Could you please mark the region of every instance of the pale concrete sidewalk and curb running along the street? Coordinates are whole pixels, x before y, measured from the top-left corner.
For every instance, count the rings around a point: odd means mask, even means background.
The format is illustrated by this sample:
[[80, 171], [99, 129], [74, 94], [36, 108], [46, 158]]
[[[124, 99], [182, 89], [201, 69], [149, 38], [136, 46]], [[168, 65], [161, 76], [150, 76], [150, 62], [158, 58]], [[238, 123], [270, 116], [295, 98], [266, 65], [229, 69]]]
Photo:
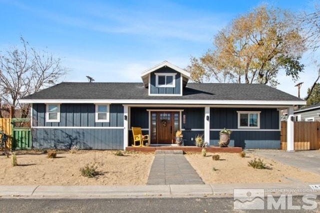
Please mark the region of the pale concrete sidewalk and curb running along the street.
[[[312, 189], [310, 185], [317, 185]], [[129, 197], [232, 197], [234, 188], [264, 188], [265, 193], [317, 194], [317, 183], [246, 183], [246, 184], [190, 184], [190, 185], [134, 185], [134, 186], [6, 186], [0, 185], [1, 198], [129, 198]], [[292, 190], [293, 189], [293, 190]], [[294, 190], [295, 189], [295, 190]]]

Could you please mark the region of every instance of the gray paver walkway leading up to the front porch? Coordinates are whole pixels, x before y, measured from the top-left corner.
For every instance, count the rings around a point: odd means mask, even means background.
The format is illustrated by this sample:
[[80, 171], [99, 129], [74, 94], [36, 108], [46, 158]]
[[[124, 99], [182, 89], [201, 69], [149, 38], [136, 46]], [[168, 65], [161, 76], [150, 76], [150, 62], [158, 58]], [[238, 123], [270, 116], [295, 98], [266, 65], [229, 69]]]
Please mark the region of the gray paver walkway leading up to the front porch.
[[204, 184], [181, 151], [156, 151], [148, 185]]

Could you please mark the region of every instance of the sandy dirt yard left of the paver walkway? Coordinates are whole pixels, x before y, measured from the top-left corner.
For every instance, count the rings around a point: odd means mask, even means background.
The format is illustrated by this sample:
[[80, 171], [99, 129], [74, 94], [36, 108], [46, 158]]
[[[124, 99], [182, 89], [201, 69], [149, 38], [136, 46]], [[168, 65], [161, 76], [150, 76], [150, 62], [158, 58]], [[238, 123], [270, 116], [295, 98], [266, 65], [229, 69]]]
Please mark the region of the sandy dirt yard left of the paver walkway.
[[[146, 184], [153, 153], [125, 153], [125, 156], [116, 156], [114, 153], [115, 151], [62, 151], [57, 152], [56, 158], [47, 158], [47, 154], [43, 152], [17, 152], [18, 166], [12, 166], [11, 158], [1, 155], [0, 185]], [[80, 168], [94, 163], [100, 174], [94, 178], [82, 176]]]

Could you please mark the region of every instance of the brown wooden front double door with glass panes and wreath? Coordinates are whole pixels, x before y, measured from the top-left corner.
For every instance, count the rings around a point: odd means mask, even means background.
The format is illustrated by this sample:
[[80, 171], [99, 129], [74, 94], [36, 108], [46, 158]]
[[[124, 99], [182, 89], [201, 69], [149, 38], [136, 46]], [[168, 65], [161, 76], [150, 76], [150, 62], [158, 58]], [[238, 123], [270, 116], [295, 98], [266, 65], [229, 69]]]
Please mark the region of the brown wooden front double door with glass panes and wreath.
[[179, 111], [151, 111], [151, 143], [172, 143], [179, 129]]

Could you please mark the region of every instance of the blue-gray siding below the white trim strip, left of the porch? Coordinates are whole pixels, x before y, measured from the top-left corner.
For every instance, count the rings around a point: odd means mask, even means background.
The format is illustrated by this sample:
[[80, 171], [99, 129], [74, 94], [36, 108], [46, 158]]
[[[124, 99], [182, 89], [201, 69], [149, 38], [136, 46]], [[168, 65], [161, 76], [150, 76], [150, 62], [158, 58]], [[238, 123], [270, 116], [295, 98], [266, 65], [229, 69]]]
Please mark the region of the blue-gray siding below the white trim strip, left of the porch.
[[123, 149], [123, 129], [33, 128], [33, 148]]

